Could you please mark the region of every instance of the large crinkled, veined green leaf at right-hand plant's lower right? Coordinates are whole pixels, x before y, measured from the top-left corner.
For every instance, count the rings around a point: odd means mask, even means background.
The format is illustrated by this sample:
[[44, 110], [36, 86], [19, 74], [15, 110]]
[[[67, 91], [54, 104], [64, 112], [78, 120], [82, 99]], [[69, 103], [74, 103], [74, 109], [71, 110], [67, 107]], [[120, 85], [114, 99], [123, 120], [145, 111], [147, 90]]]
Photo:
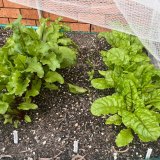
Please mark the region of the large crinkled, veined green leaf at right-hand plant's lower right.
[[145, 108], [139, 108], [134, 113], [123, 111], [122, 122], [133, 129], [143, 142], [155, 141], [160, 137], [157, 117]]

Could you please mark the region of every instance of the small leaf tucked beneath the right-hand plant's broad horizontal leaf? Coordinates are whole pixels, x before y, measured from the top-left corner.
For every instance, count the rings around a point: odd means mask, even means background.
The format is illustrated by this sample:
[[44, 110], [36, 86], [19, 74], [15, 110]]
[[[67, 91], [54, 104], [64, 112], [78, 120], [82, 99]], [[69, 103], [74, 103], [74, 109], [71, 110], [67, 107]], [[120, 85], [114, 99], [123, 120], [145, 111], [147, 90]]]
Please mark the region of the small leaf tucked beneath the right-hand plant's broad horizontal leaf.
[[122, 124], [122, 118], [118, 115], [118, 114], [115, 114], [113, 116], [110, 116], [105, 124], [115, 124], [115, 125], [121, 125]]

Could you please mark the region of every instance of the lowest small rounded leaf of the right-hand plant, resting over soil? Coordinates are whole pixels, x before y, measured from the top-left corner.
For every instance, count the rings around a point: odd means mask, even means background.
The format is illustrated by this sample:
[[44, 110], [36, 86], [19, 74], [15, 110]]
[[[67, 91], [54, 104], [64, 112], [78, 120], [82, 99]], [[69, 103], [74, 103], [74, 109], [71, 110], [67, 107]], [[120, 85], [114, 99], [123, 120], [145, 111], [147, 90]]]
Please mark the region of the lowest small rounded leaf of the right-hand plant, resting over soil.
[[128, 145], [133, 141], [133, 135], [131, 129], [123, 129], [116, 137], [116, 144], [118, 147]]

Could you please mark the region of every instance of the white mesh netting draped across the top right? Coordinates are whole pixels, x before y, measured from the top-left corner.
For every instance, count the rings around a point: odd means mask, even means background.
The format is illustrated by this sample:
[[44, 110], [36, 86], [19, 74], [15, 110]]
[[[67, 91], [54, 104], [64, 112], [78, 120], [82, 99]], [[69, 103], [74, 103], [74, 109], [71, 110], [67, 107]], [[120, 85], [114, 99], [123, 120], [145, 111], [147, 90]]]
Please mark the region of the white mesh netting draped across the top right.
[[160, 0], [10, 0], [139, 37], [160, 67]]

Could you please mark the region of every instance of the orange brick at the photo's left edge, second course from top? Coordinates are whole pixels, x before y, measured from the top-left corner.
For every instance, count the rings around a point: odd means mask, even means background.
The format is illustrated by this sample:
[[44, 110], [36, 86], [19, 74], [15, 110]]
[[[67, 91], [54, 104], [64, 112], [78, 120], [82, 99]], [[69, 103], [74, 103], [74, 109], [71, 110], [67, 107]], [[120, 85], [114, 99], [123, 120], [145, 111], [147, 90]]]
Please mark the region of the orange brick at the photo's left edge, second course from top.
[[0, 17], [17, 18], [19, 15], [19, 9], [0, 8]]

